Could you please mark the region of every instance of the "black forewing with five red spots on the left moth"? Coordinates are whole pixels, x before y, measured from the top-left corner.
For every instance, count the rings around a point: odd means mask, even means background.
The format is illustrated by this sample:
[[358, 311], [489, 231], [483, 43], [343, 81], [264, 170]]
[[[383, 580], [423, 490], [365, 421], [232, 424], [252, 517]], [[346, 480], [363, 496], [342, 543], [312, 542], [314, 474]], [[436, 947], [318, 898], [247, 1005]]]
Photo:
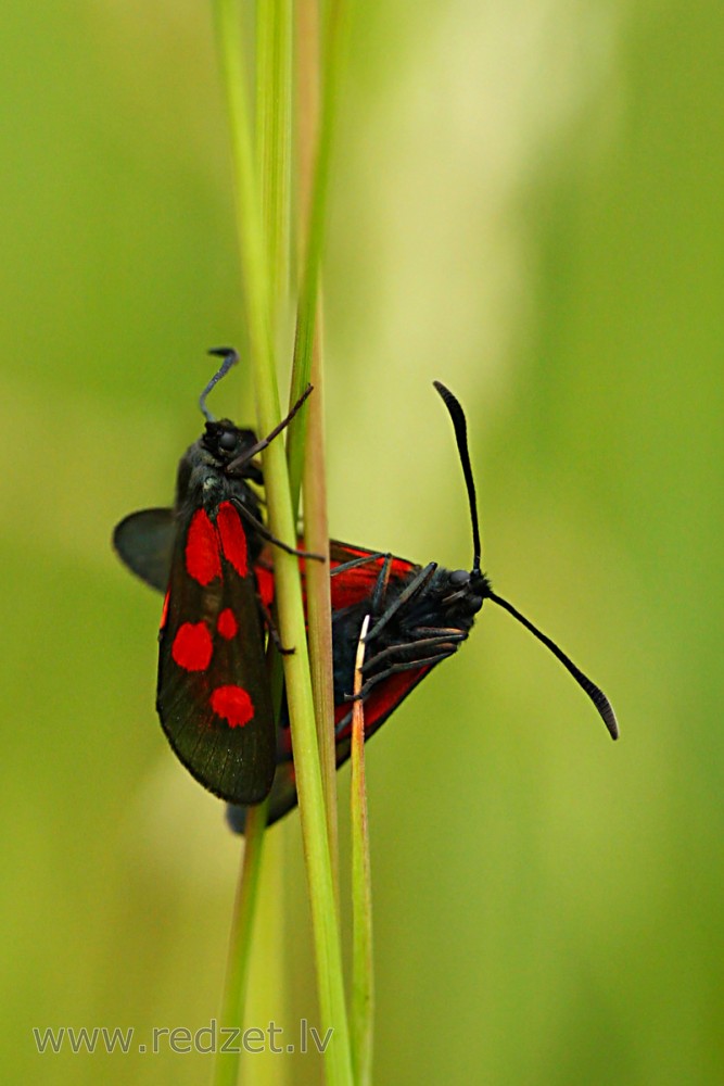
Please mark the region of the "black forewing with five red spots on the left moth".
[[256, 582], [237, 509], [179, 526], [160, 632], [157, 709], [176, 754], [236, 804], [269, 792], [276, 738]]

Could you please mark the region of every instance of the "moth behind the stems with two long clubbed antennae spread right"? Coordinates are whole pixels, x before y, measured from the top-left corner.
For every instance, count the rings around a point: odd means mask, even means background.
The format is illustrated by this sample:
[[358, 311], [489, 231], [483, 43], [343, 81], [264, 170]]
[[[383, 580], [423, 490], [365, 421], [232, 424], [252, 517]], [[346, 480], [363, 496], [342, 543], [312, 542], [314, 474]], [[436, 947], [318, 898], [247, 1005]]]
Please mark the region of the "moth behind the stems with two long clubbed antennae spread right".
[[[365, 637], [360, 691], [365, 705], [365, 738], [368, 740], [433, 667], [457, 652], [467, 640], [485, 599], [507, 610], [550, 649], [588, 695], [611, 737], [618, 738], [615, 714], [600, 687], [512, 604], [497, 595], [482, 571], [478, 506], [465, 415], [453, 393], [440, 381], [434, 384], [453, 420], [468, 491], [473, 538], [472, 569], [449, 570], [434, 561], [422, 567], [391, 554], [334, 541], [330, 543], [338, 767], [350, 757], [351, 695], [355, 656], [365, 617], [371, 617]], [[266, 553], [261, 560], [270, 564], [270, 554]], [[296, 804], [288, 727], [280, 731], [277, 760], [269, 795], [269, 823]], [[231, 828], [243, 832], [243, 808], [230, 807], [228, 816]]]

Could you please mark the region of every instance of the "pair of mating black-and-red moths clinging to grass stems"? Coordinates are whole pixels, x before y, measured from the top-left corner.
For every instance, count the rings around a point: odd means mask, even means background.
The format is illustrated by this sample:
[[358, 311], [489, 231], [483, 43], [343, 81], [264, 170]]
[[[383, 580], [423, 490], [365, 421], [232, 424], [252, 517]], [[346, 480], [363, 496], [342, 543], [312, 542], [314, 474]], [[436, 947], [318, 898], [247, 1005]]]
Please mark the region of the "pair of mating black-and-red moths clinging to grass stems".
[[[142, 509], [117, 525], [113, 542], [125, 565], [165, 592], [158, 634], [156, 708], [180, 761], [206, 788], [234, 806], [269, 796], [268, 821], [296, 804], [289, 722], [277, 728], [265, 666], [267, 634], [277, 639], [274, 551], [284, 546], [263, 522], [263, 483], [255, 457], [289, 424], [263, 441], [253, 430], [216, 420], [206, 396], [237, 362], [218, 349], [219, 370], [200, 399], [204, 432], [178, 467], [173, 509]], [[561, 649], [491, 588], [482, 572], [475, 489], [460, 404], [443, 384], [457, 440], [472, 520], [473, 560], [448, 570], [331, 540], [332, 644], [336, 765], [350, 756], [351, 695], [360, 630], [367, 616], [360, 696], [369, 738], [441, 660], [457, 652], [485, 599], [505, 608], [546, 645], [592, 699], [613, 738], [613, 709]], [[304, 563], [321, 556], [300, 553]], [[237, 826], [243, 829], [243, 811]]]

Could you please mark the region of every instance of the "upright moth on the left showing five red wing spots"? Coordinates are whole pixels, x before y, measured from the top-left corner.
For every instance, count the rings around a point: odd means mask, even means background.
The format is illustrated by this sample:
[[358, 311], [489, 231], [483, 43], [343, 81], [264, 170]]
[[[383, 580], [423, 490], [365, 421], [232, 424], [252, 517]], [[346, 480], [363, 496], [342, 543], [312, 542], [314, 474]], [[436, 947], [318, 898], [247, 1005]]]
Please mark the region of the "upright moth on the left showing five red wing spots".
[[165, 591], [158, 633], [156, 708], [180, 761], [206, 788], [234, 804], [261, 803], [275, 774], [276, 732], [265, 667], [269, 577], [257, 577], [265, 540], [254, 457], [289, 424], [257, 441], [216, 420], [206, 396], [238, 361], [229, 348], [200, 397], [201, 438], [181, 457], [173, 510], [142, 509], [117, 525], [123, 561]]

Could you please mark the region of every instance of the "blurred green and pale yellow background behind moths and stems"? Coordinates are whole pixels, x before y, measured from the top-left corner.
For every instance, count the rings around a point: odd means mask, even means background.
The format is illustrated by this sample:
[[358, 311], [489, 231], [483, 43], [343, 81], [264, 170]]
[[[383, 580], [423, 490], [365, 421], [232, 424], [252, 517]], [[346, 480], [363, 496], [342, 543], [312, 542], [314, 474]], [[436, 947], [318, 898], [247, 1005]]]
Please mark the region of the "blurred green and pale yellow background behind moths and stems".
[[[2, 35], [3, 1077], [204, 1083], [205, 1056], [38, 1056], [30, 1028], [218, 1012], [239, 846], [166, 747], [158, 599], [109, 544], [172, 497], [206, 348], [243, 343], [211, 18], [5, 0]], [[494, 585], [622, 727], [487, 607], [370, 745], [379, 1083], [724, 1082], [723, 46], [713, 0], [356, 11], [332, 533], [469, 564], [444, 380]], [[253, 422], [247, 375], [215, 395]], [[250, 1023], [295, 1030], [297, 816], [267, 843]]]

